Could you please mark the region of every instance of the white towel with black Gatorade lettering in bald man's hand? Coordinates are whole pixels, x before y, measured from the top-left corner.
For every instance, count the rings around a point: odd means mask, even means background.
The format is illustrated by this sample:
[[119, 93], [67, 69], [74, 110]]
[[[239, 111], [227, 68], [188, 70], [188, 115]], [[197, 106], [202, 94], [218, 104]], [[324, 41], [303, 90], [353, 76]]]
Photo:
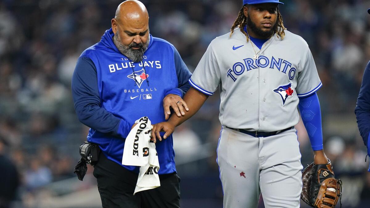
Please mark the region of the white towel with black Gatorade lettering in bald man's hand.
[[122, 157], [122, 165], [140, 166], [134, 195], [139, 191], [161, 186], [157, 150], [150, 136], [152, 124], [148, 117], [142, 117], [135, 123], [138, 124], [126, 138]]

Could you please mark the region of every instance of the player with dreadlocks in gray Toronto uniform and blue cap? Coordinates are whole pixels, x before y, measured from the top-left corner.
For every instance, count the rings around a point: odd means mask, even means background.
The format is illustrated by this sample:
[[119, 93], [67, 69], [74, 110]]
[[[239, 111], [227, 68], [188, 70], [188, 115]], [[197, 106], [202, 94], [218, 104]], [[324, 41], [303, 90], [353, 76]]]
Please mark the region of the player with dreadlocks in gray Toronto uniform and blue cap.
[[182, 117], [154, 125], [162, 140], [199, 110], [219, 86], [222, 124], [217, 163], [223, 206], [300, 207], [302, 164], [294, 126], [299, 106], [314, 150], [315, 164], [328, 164], [323, 152], [316, 91], [322, 86], [305, 40], [286, 30], [279, 0], [243, 0], [231, 32], [215, 38], [189, 82]]

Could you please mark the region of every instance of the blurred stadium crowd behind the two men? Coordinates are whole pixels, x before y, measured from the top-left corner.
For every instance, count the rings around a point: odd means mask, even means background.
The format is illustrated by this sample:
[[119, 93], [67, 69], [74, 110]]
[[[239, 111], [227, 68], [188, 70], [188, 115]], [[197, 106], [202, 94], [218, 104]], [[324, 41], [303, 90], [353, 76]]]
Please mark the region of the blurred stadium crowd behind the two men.
[[[282, 1], [284, 25], [307, 41], [323, 82], [324, 148], [343, 180], [343, 207], [369, 207], [369, 161], [353, 111], [370, 60], [370, 1]], [[77, 120], [70, 85], [78, 56], [111, 27], [120, 2], [0, 0], [0, 143], [7, 144], [0, 154], [14, 161], [21, 180], [12, 207], [101, 207], [92, 168], [83, 182], [73, 174], [88, 128]], [[242, 6], [241, 0], [142, 2], [150, 33], [174, 44], [191, 71], [210, 41], [228, 33]], [[182, 207], [222, 207], [218, 112], [215, 93], [176, 128]], [[296, 128], [305, 166], [312, 150], [302, 123]]]

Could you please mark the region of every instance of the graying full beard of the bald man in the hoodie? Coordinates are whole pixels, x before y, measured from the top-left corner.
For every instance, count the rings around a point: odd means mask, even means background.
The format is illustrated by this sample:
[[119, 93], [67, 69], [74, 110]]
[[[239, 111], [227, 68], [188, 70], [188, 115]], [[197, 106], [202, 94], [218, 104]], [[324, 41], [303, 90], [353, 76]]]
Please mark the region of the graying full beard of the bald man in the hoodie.
[[[150, 42], [150, 35], [148, 35], [147, 43], [131, 43], [128, 46], [122, 44], [120, 34], [118, 30], [113, 37], [113, 43], [117, 47], [117, 49], [125, 55], [127, 58], [131, 59], [134, 63], [141, 62], [143, 60], [143, 56], [145, 51], [147, 51]], [[132, 47], [140, 47], [139, 49], [132, 49]]]

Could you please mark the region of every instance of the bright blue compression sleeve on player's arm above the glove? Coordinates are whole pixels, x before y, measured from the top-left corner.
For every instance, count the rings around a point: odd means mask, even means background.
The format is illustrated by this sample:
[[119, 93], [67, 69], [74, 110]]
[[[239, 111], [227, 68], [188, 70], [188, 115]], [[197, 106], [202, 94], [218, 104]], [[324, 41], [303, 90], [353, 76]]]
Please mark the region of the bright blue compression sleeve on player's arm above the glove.
[[308, 137], [310, 138], [312, 150], [322, 150], [323, 130], [321, 125], [319, 97], [317, 97], [316, 93], [307, 97], [300, 97], [298, 107]]

